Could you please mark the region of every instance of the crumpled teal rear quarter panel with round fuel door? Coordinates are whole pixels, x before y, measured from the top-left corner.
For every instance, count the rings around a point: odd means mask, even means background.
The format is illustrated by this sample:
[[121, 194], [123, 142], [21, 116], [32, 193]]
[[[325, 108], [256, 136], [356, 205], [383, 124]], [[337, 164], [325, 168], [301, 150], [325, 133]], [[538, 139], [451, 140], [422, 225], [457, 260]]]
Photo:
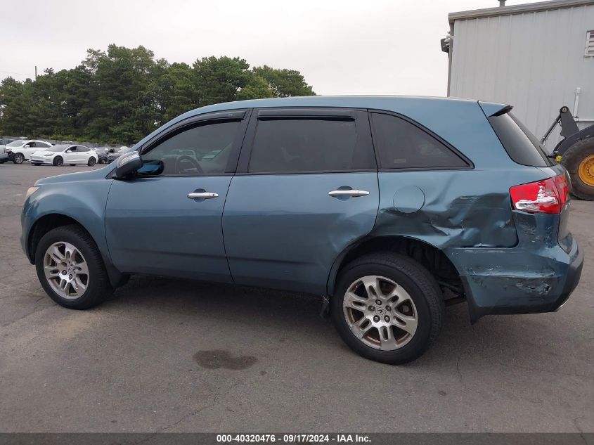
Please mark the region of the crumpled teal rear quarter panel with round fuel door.
[[[380, 172], [380, 212], [372, 235], [407, 236], [439, 249], [512, 247], [517, 234], [509, 187], [522, 181], [517, 176], [497, 169]], [[411, 202], [415, 189], [423, 195]]]

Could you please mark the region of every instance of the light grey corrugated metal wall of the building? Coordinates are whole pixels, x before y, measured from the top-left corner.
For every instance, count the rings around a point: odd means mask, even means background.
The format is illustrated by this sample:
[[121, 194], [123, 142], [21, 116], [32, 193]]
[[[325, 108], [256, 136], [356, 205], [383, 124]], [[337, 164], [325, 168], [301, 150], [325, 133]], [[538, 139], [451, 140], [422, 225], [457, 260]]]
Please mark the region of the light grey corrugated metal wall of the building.
[[594, 58], [584, 57], [588, 30], [594, 30], [594, 6], [456, 20], [449, 94], [514, 105], [541, 138], [561, 105], [573, 110], [581, 87], [579, 117], [594, 119]]

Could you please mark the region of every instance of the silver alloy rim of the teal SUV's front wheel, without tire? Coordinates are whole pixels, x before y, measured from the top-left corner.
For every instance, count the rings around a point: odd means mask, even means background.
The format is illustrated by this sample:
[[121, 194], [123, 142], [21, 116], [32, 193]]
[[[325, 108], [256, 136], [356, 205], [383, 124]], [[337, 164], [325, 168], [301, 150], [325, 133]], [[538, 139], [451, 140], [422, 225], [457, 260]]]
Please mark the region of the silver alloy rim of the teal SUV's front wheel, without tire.
[[72, 244], [58, 241], [44, 255], [44, 273], [53, 292], [65, 299], [82, 297], [89, 287], [89, 265]]

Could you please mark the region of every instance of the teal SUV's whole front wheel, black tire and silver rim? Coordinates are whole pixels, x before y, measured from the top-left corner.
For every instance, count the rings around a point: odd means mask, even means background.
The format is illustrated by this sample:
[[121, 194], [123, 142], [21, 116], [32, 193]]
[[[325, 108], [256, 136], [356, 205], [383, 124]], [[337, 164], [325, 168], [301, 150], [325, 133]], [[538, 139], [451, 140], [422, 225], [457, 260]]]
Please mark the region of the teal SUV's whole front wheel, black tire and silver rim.
[[47, 295], [69, 309], [89, 309], [113, 292], [97, 245], [75, 224], [54, 228], [39, 240], [35, 269]]

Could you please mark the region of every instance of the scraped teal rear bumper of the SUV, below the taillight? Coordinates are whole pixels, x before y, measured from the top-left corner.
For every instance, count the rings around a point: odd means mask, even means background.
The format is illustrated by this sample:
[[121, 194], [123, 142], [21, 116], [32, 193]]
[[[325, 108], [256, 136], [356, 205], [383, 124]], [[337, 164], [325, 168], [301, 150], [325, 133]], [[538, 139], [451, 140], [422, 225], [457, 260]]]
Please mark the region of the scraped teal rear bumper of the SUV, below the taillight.
[[[491, 314], [553, 312], [579, 283], [583, 251], [572, 240], [536, 252], [512, 249], [454, 249], [471, 323]], [[501, 261], [500, 261], [501, 260]]]

